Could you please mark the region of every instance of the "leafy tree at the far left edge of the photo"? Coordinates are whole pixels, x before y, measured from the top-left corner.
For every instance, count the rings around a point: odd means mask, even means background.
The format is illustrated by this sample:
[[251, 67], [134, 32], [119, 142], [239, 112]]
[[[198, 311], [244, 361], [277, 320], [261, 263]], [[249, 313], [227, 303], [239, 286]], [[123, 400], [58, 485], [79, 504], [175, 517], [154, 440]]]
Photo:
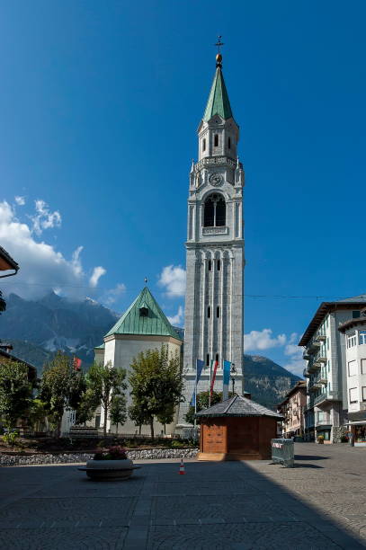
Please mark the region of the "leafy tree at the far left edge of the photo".
[[0, 359], [0, 421], [13, 428], [31, 404], [33, 384], [28, 367], [21, 362]]

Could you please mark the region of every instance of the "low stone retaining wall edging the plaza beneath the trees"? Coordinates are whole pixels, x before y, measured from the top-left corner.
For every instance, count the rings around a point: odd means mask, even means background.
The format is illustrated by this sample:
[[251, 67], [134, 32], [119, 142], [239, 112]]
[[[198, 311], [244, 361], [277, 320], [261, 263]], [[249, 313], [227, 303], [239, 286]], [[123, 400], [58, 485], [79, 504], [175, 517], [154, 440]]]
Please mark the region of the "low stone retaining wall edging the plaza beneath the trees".
[[[154, 458], [194, 458], [198, 448], [147, 448], [128, 450], [131, 460], [152, 460]], [[0, 454], [0, 466], [29, 466], [32, 464], [67, 464], [86, 462], [94, 457], [94, 453], [64, 453], [48, 455], [3, 455]]]

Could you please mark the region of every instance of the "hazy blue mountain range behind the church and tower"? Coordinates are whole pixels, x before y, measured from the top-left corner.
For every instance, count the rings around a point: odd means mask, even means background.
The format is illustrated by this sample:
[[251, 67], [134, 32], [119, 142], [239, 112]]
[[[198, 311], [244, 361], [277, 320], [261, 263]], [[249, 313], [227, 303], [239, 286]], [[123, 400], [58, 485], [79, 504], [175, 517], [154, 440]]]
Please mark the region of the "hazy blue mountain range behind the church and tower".
[[[74, 301], [50, 292], [38, 300], [16, 294], [6, 299], [0, 315], [0, 339], [13, 344], [13, 354], [37, 367], [57, 350], [79, 357], [87, 367], [94, 360], [94, 347], [103, 342], [119, 314], [91, 298]], [[178, 329], [183, 331], [183, 329]], [[245, 391], [269, 408], [280, 403], [299, 377], [271, 359], [244, 356]]]

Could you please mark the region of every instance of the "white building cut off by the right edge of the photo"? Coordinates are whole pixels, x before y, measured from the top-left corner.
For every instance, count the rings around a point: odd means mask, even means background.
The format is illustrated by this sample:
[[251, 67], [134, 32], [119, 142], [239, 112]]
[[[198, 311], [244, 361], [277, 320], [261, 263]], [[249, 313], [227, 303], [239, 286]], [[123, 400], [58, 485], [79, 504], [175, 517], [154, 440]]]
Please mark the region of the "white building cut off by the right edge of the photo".
[[355, 446], [366, 446], [366, 309], [338, 327], [345, 336], [348, 428]]

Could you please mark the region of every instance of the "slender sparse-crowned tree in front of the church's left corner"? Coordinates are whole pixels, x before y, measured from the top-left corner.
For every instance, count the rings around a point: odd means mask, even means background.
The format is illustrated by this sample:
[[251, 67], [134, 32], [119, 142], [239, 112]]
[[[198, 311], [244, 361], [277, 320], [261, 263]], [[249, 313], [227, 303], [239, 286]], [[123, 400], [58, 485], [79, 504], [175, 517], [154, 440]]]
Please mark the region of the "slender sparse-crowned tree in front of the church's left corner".
[[93, 363], [87, 374], [86, 383], [96, 402], [102, 404], [104, 412], [103, 434], [107, 435], [107, 420], [110, 413], [112, 399], [115, 395], [122, 395], [127, 385], [124, 382], [126, 371], [124, 368], [112, 367], [111, 361], [106, 365]]

